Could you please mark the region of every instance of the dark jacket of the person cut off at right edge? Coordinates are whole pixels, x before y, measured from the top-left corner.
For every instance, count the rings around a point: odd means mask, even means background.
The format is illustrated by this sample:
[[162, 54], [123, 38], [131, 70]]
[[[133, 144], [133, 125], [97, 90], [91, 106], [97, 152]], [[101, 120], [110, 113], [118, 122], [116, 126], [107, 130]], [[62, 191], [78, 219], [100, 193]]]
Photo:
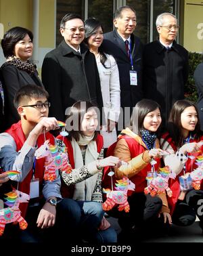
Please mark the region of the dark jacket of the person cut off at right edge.
[[200, 116], [201, 130], [203, 131], [203, 62], [200, 63], [194, 72], [194, 80], [198, 89], [198, 110]]

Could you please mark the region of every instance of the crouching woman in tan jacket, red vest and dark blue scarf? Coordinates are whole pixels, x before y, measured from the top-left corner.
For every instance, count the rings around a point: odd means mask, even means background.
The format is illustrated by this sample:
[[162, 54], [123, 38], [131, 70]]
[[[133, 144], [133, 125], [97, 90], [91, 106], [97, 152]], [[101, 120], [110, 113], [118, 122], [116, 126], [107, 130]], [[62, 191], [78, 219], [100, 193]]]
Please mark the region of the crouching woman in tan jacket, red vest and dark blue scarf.
[[[163, 213], [164, 222], [171, 223], [168, 204], [165, 195], [150, 196], [144, 194], [147, 186], [146, 177], [152, 169], [152, 160], [156, 160], [155, 169], [158, 171], [160, 157], [163, 151], [160, 149], [157, 138], [161, 124], [160, 106], [152, 100], [141, 100], [133, 110], [130, 127], [121, 131], [115, 142], [108, 148], [107, 155], [114, 155], [125, 161], [128, 165], [115, 168], [115, 179], [129, 177], [135, 184], [135, 192], [129, 194], [129, 213], [113, 208], [108, 213], [118, 217], [118, 223], [127, 233], [133, 226], [148, 226], [156, 220], [159, 213]], [[109, 170], [105, 170], [103, 188], [111, 188]]]

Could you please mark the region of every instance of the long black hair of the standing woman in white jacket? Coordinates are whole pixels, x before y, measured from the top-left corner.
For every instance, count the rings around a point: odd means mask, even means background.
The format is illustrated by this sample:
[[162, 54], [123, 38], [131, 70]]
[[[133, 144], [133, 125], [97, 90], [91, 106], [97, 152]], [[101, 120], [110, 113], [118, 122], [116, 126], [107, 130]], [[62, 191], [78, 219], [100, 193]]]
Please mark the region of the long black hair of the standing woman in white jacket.
[[[104, 28], [101, 25], [101, 23], [99, 22], [99, 20], [96, 20], [95, 18], [88, 18], [87, 20], [85, 20], [85, 40], [84, 40], [84, 43], [86, 45], [88, 45], [89, 37], [91, 37], [91, 35], [93, 35], [93, 33], [95, 33], [95, 31], [97, 30], [97, 28], [99, 28], [99, 26], [101, 26], [101, 29], [104, 32]], [[105, 62], [107, 60], [107, 57], [106, 57], [106, 54], [104, 53], [104, 49], [102, 48], [102, 46], [99, 47], [98, 51], [99, 51], [99, 54], [100, 54], [101, 64], [104, 66], [104, 68], [110, 68], [109, 66], [105, 66]]]

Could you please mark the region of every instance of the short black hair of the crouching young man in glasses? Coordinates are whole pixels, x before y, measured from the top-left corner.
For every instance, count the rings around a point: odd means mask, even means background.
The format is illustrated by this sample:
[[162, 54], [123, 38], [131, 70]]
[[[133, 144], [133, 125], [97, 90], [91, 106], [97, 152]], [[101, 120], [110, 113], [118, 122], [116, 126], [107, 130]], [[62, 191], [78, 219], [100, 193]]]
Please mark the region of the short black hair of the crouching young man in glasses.
[[32, 99], [41, 98], [49, 98], [49, 93], [45, 91], [43, 87], [40, 87], [38, 85], [24, 85], [20, 89], [18, 89], [18, 91], [16, 91], [16, 94], [14, 96], [14, 106], [17, 109], [23, 99], [29, 101]]

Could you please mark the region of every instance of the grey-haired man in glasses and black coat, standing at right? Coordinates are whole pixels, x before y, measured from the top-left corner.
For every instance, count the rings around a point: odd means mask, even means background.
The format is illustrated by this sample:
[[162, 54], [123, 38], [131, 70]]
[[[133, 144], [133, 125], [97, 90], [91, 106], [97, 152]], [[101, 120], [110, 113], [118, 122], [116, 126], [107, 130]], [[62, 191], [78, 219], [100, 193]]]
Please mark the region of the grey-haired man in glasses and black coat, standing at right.
[[160, 104], [164, 126], [174, 102], [184, 98], [188, 53], [175, 41], [179, 26], [173, 14], [160, 14], [156, 29], [158, 40], [145, 45], [143, 51], [143, 91], [145, 98]]

